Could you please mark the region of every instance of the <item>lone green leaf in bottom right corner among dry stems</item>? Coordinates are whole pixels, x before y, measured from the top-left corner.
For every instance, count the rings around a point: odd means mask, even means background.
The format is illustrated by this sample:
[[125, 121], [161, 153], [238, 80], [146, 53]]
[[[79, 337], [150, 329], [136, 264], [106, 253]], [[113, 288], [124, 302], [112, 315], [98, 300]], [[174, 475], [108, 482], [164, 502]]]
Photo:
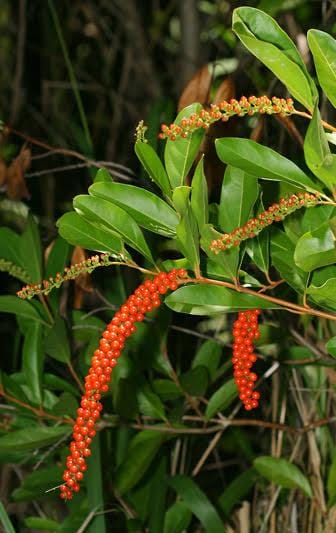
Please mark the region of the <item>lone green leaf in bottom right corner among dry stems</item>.
[[306, 476], [296, 466], [276, 457], [262, 456], [253, 461], [253, 466], [266, 479], [287, 489], [298, 488], [312, 498], [312, 490]]

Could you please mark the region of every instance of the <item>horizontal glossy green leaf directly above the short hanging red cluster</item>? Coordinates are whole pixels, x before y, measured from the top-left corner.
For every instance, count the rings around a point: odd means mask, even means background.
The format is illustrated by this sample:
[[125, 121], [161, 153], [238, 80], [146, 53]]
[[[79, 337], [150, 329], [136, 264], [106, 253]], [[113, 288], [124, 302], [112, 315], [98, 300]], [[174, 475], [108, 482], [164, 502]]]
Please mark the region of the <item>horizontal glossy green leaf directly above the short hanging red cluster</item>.
[[246, 309], [277, 309], [279, 306], [257, 295], [238, 293], [226, 287], [195, 285], [181, 287], [165, 299], [166, 305], [179, 313], [211, 315], [236, 313]]

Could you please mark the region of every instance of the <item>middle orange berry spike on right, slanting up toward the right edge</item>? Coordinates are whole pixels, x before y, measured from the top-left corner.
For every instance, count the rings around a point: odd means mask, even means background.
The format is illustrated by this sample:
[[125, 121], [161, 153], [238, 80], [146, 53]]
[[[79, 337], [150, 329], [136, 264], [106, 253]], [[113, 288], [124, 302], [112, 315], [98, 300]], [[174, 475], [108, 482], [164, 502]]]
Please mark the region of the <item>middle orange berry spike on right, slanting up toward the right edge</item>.
[[301, 207], [313, 207], [320, 201], [318, 194], [298, 193], [292, 194], [289, 198], [282, 198], [279, 203], [271, 205], [266, 211], [259, 213], [256, 218], [251, 218], [240, 228], [236, 228], [232, 233], [224, 233], [219, 239], [214, 239], [210, 245], [210, 250], [214, 254], [228, 250], [233, 246], [239, 246], [242, 241], [251, 239], [260, 233], [266, 226], [273, 222], [279, 222]]

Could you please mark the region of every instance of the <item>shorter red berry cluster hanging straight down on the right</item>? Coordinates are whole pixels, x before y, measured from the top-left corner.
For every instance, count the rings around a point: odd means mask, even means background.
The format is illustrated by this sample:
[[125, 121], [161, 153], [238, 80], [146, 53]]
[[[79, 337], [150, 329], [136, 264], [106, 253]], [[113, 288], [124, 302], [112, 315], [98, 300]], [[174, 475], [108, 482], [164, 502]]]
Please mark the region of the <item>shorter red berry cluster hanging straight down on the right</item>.
[[253, 340], [260, 337], [258, 316], [260, 309], [242, 311], [233, 325], [233, 357], [234, 378], [239, 391], [239, 398], [247, 411], [259, 405], [260, 394], [254, 391], [257, 374], [251, 372], [257, 356], [254, 353]]

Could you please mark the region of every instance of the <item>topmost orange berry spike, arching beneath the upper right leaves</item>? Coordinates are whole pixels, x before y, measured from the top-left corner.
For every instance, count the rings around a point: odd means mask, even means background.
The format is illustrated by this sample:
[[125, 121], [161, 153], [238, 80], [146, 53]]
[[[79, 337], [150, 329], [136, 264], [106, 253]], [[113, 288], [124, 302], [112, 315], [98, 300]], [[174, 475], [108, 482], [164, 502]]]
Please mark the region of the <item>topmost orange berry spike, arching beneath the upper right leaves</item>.
[[220, 104], [211, 104], [210, 110], [202, 109], [199, 113], [193, 113], [189, 118], [184, 118], [179, 124], [162, 124], [160, 139], [170, 139], [174, 141], [178, 137], [186, 138], [199, 128], [208, 129], [211, 124], [218, 120], [227, 122], [231, 117], [253, 116], [256, 113], [262, 115], [280, 114], [291, 115], [295, 112], [293, 100], [291, 98], [271, 99], [267, 96], [242, 96], [240, 100], [232, 98], [229, 102], [223, 101]]

